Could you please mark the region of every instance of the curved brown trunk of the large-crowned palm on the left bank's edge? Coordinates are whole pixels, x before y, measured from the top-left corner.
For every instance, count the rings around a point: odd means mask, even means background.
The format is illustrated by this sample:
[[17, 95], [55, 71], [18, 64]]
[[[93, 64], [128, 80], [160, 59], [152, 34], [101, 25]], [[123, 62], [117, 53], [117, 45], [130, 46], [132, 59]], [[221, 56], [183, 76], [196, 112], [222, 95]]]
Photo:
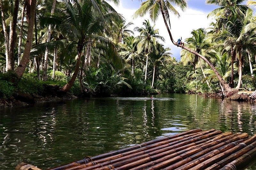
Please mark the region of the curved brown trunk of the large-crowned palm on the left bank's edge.
[[77, 59], [76, 59], [76, 68], [75, 68], [75, 71], [74, 71], [71, 79], [69, 80], [69, 82], [62, 87], [61, 90], [64, 91], [64, 92], [68, 92], [71, 89], [72, 85], [74, 85], [74, 82], [76, 80], [76, 77], [77, 77], [77, 74], [78, 74], [79, 68], [80, 68], [82, 49], [83, 49], [83, 46], [78, 45], [78, 47], [77, 47], [78, 56], [77, 56]]

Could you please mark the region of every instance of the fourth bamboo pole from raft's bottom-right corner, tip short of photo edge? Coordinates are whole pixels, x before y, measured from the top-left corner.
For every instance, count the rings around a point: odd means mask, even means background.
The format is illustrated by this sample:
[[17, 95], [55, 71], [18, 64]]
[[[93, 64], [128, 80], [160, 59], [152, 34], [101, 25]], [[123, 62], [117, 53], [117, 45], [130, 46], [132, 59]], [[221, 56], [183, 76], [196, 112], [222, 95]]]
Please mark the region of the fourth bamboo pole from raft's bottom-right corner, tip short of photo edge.
[[[196, 153], [196, 154], [194, 154], [194, 155], [192, 155], [192, 156], [190, 156], [190, 157], [188, 157], [186, 159], [183, 159], [183, 160], [181, 160], [181, 161], [179, 161], [179, 162], [177, 162], [177, 163], [175, 163], [175, 164], [173, 164], [171, 166], [166, 167], [165, 170], [167, 170], [167, 169], [168, 170], [169, 169], [176, 169], [176, 168], [178, 168], [180, 170], [181, 169], [182, 170], [189, 169], [190, 166], [192, 167], [192, 165], [195, 166], [197, 163], [200, 163], [200, 161], [198, 161], [197, 158], [199, 158], [199, 157], [201, 157], [201, 156], [211, 152], [212, 150], [220, 148], [220, 147], [222, 147], [222, 146], [224, 146], [226, 144], [230, 144], [231, 142], [234, 143], [234, 144], [239, 144], [241, 142], [244, 142], [246, 140], [245, 139], [246, 137], [248, 137], [247, 134], [242, 134], [242, 135], [239, 135], [239, 136], [235, 136], [235, 137], [233, 137], [233, 138], [231, 138], [230, 140], [227, 140], [227, 141], [222, 140], [220, 144], [217, 144], [217, 145], [212, 146], [210, 148], [206, 148], [205, 150], [203, 150], [201, 152], [198, 152], [198, 153]], [[188, 164], [188, 163], [190, 163], [190, 164]], [[190, 166], [188, 166], [188, 165], [190, 165]]]

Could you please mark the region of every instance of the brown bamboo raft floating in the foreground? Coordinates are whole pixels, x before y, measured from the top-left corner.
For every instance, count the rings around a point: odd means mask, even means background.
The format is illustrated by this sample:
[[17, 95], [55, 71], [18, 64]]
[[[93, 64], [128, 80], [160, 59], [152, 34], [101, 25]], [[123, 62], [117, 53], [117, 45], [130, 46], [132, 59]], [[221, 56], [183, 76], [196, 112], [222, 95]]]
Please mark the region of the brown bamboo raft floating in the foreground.
[[[48, 170], [244, 169], [256, 159], [256, 135], [193, 129]], [[16, 170], [40, 170], [21, 163]]]

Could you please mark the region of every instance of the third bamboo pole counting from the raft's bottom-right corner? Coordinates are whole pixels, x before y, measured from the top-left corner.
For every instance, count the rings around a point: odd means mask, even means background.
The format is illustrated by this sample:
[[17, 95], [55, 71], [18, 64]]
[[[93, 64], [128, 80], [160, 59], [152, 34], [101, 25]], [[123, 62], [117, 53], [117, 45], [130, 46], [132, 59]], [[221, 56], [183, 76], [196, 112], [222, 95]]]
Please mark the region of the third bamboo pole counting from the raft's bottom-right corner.
[[256, 135], [247, 139], [246, 141], [244, 141], [244, 143], [237, 144], [235, 147], [232, 147], [232, 148], [226, 150], [225, 152], [222, 152], [220, 150], [220, 153], [218, 155], [215, 155], [212, 158], [207, 159], [204, 162], [201, 162], [200, 164], [196, 165], [195, 167], [191, 168], [190, 170], [205, 169], [205, 168], [211, 166], [212, 164], [219, 162], [221, 159], [243, 149], [244, 147], [246, 147], [246, 145], [249, 145], [255, 141], [256, 141]]

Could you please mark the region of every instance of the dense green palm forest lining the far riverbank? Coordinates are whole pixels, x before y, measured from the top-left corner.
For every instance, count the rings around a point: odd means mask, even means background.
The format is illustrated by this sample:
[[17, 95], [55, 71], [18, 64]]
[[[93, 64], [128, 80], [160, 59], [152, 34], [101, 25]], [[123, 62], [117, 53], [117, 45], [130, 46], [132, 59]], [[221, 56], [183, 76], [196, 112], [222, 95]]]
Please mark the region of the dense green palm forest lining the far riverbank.
[[[133, 30], [108, 2], [0, 0], [1, 98], [44, 96], [49, 85], [76, 96], [255, 90], [255, 1], [206, 0], [219, 6], [208, 16], [216, 21], [192, 30], [184, 46], [172, 38], [169, 13], [179, 16], [172, 5], [184, 11], [185, 0], [143, 1], [134, 17], [149, 11], [152, 22]], [[183, 48], [180, 62], [153, 26], [160, 15]]]

